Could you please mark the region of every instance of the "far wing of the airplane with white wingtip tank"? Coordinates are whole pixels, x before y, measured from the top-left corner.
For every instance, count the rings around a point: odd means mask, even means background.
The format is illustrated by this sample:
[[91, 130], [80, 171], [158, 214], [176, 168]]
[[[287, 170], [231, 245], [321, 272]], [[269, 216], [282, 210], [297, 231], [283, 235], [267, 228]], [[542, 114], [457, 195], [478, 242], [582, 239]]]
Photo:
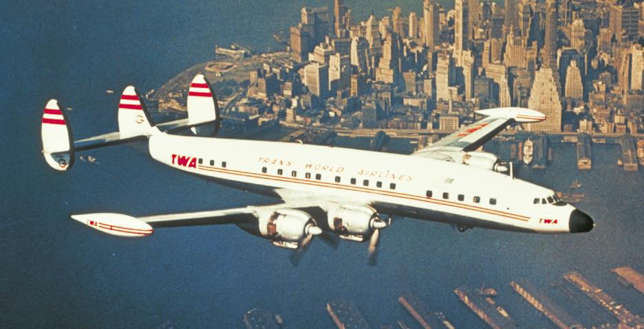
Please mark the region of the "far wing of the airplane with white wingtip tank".
[[546, 120], [546, 115], [539, 111], [519, 107], [504, 107], [476, 111], [486, 115], [480, 121], [464, 126], [455, 133], [440, 139], [426, 148], [414, 152], [418, 157], [445, 159], [444, 152], [472, 152], [480, 148], [513, 122], [539, 122]]

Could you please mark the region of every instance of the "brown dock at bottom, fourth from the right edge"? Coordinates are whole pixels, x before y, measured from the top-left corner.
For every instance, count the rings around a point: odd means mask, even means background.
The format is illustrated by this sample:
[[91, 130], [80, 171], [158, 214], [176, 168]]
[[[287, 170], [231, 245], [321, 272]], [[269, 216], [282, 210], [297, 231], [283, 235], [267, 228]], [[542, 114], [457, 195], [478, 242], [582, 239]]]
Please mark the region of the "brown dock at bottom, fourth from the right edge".
[[493, 329], [517, 328], [514, 319], [508, 315], [506, 310], [498, 306], [492, 297], [495, 291], [489, 289], [473, 289], [467, 286], [460, 286], [454, 290], [472, 312], [480, 317]]

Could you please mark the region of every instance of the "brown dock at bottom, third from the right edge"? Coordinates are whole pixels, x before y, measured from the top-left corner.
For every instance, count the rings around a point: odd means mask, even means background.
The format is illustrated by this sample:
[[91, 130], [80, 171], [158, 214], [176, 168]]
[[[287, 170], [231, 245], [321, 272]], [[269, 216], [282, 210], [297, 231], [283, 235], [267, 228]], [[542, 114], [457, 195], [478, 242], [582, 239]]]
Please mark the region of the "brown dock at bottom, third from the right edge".
[[528, 304], [532, 305], [534, 308], [539, 310], [543, 315], [545, 315], [550, 321], [552, 321], [557, 328], [561, 329], [575, 329], [582, 328], [579, 321], [573, 319], [566, 311], [555, 304], [555, 302], [548, 297], [543, 291], [539, 288], [530, 284], [525, 280], [517, 280], [510, 282], [510, 286], [518, 293], [521, 297], [526, 299]]

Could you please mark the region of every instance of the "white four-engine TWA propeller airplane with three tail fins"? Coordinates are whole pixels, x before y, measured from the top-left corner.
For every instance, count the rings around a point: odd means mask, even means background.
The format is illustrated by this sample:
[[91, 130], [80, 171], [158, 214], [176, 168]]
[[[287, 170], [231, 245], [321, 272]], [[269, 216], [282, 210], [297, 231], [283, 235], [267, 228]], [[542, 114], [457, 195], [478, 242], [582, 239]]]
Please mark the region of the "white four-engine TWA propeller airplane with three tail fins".
[[[277, 247], [294, 249], [294, 255], [315, 236], [335, 245], [337, 238], [369, 241], [369, 264], [374, 264], [380, 230], [390, 224], [384, 215], [448, 223], [459, 231], [482, 227], [565, 234], [594, 227], [588, 214], [561, 201], [553, 190], [506, 174], [506, 163], [481, 150], [510, 124], [546, 120], [531, 109], [477, 111], [482, 120], [411, 155], [217, 138], [222, 118], [202, 74], [190, 84], [186, 119], [153, 123], [139, 93], [128, 86], [120, 97], [118, 131], [74, 140], [62, 109], [57, 100], [50, 100], [42, 118], [43, 155], [55, 170], [72, 168], [76, 152], [141, 140], [147, 141], [152, 159], [175, 170], [279, 200], [206, 212], [71, 216], [114, 236], [148, 236], [162, 227], [235, 224]], [[315, 217], [316, 210], [325, 216]]]

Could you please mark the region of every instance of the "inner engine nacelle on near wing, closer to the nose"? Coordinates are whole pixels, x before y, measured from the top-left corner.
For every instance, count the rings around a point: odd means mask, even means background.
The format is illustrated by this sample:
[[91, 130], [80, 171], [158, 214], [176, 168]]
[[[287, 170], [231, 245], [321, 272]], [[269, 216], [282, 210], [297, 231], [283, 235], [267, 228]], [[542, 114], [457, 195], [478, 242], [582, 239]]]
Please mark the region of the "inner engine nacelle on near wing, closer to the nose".
[[364, 205], [337, 205], [328, 209], [329, 227], [346, 240], [363, 242], [374, 229], [387, 226], [376, 209]]

